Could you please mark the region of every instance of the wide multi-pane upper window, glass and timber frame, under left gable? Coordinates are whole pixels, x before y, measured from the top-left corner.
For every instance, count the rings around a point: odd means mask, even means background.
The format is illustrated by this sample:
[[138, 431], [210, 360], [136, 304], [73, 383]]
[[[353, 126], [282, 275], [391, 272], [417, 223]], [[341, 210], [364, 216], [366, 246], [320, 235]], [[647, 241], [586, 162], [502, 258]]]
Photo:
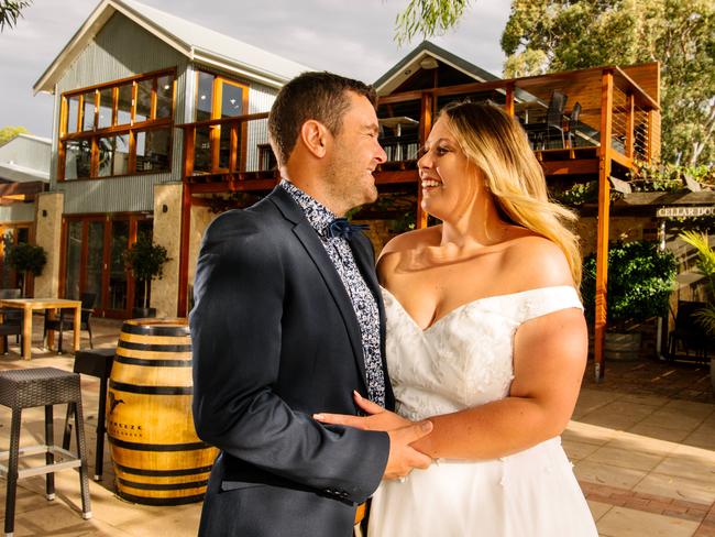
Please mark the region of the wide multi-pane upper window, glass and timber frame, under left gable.
[[63, 95], [61, 180], [168, 172], [174, 72]]

